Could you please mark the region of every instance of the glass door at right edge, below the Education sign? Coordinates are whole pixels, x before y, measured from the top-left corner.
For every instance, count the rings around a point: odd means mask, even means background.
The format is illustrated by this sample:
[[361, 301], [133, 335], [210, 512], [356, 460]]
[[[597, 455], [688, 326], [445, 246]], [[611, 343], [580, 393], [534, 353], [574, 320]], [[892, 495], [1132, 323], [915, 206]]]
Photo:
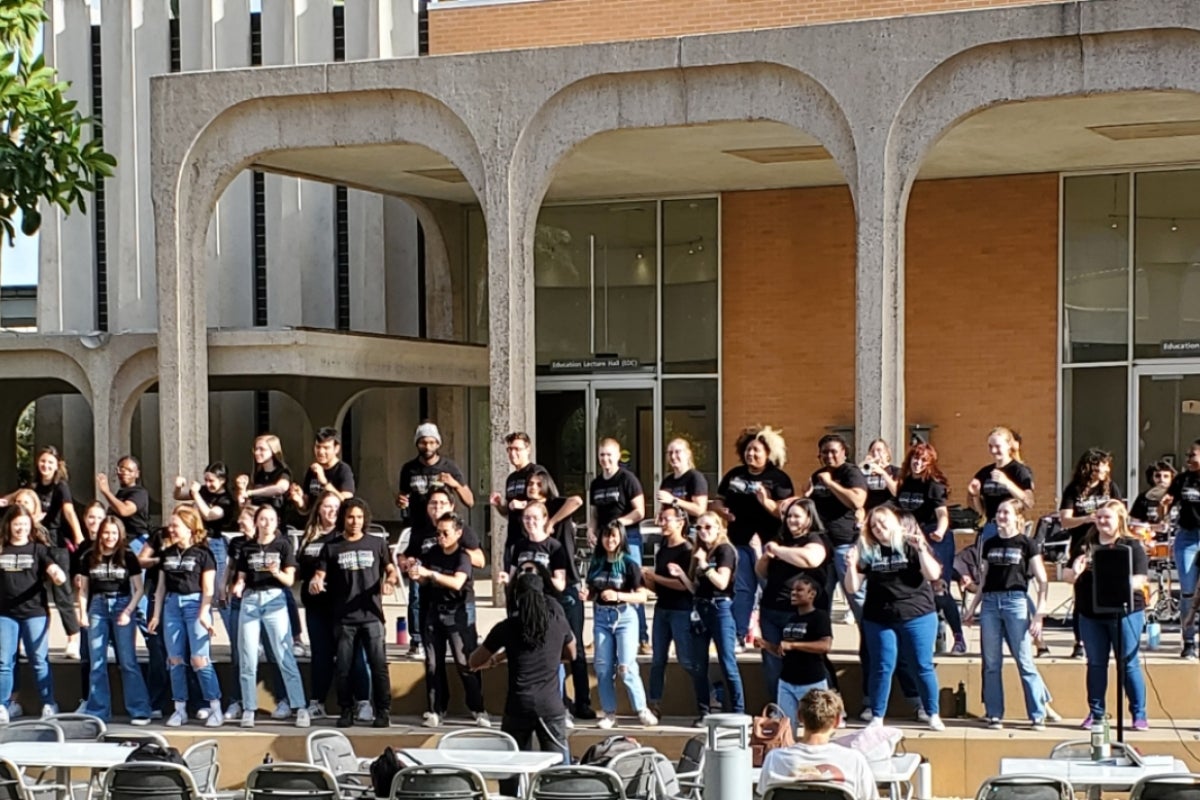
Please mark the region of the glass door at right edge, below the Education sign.
[[1200, 365], [1136, 367], [1138, 453], [1136, 486], [1126, 488], [1135, 497], [1145, 488], [1150, 464], [1166, 461], [1182, 469], [1188, 447], [1200, 439]]

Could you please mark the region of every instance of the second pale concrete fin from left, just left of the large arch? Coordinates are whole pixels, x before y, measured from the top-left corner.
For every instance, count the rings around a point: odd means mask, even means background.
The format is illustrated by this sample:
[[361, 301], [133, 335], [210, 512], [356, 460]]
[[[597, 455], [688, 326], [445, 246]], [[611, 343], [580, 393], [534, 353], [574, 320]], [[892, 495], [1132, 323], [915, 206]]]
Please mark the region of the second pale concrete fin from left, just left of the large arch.
[[155, 234], [150, 192], [150, 76], [169, 71], [168, 0], [102, 8], [104, 149], [120, 168], [104, 182], [108, 312], [113, 331], [155, 324]]

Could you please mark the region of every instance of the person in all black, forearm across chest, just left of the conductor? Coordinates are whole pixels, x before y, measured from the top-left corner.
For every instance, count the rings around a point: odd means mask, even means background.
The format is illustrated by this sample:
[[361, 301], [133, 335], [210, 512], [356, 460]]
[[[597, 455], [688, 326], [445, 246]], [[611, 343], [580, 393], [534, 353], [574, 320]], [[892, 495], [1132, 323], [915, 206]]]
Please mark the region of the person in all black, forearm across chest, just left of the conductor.
[[470, 557], [462, 548], [462, 518], [455, 513], [438, 519], [438, 547], [428, 551], [409, 567], [408, 577], [424, 584], [421, 621], [425, 625], [425, 692], [428, 714], [426, 728], [442, 726], [450, 709], [450, 685], [446, 680], [446, 646], [467, 696], [467, 709], [475, 724], [491, 728], [484, 710], [484, 688], [479, 675], [467, 667], [468, 656], [479, 645], [475, 620], [467, 615], [467, 597], [472, 591]]

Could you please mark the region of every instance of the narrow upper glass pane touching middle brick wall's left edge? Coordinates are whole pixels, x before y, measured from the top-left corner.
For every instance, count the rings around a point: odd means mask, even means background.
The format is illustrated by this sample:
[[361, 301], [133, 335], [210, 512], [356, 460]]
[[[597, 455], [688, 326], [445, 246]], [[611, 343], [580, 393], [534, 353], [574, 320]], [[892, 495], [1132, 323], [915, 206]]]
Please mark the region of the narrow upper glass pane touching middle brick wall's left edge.
[[716, 200], [662, 204], [662, 371], [716, 372]]

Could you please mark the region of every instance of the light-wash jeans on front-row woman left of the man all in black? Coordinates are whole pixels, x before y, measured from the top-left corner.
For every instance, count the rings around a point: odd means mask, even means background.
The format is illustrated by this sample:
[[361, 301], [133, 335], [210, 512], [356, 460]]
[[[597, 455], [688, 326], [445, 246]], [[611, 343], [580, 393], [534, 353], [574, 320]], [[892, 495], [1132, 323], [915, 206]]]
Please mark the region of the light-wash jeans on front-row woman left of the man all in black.
[[[247, 591], [241, 597], [241, 619], [238, 622], [238, 679], [241, 682], [241, 708], [258, 709], [258, 644], [266, 639], [266, 650], [275, 654], [288, 705], [305, 706], [300, 668], [292, 652], [292, 622], [288, 620], [287, 589]], [[265, 636], [264, 636], [265, 634]]]

